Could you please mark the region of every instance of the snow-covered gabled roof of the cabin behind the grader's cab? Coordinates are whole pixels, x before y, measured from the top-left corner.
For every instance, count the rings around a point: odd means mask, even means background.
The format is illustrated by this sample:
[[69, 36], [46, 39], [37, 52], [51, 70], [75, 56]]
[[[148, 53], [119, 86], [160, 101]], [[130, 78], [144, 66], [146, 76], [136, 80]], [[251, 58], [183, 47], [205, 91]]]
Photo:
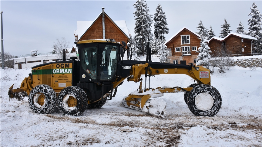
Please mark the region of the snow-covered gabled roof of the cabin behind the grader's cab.
[[[100, 15], [102, 15], [102, 12], [96, 17], [94, 21], [76, 21], [77, 30], [74, 31], [74, 35], [78, 36], [79, 39], [82, 38], [82, 36], [86, 33], [86, 31], [89, 30], [89, 28], [99, 18]], [[113, 21], [106, 13], [105, 15], [120, 29], [120, 31], [123, 32], [123, 34], [126, 35], [127, 38], [129, 38], [129, 35], [131, 35], [131, 33], [127, 28], [126, 21]]]

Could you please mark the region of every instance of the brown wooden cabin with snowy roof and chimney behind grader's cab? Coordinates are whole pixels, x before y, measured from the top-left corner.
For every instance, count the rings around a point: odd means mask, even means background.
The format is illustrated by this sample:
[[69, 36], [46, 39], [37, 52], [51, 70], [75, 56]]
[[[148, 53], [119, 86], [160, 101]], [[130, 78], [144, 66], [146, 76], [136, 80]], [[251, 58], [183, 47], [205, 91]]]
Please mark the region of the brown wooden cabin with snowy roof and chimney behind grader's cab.
[[113, 21], [102, 7], [102, 12], [94, 21], [77, 21], [74, 35], [76, 41], [111, 38], [122, 44], [121, 41], [129, 42], [131, 33], [126, 26], [126, 21]]

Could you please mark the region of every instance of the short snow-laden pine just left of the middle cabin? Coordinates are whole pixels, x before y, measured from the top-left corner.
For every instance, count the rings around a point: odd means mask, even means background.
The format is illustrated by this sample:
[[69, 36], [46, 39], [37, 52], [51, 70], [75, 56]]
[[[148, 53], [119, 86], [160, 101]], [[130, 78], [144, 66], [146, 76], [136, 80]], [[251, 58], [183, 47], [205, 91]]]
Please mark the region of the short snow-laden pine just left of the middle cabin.
[[160, 55], [160, 63], [167, 63], [168, 62], [168, 59], [167, 59], [167, 55], [168, 55], [168, 52], [167, 51], [167, 47], [166, 45], [164, 44], [164, 40], [163, 39], [156, 39], [156, 46], [158, 48], [158, 54]]

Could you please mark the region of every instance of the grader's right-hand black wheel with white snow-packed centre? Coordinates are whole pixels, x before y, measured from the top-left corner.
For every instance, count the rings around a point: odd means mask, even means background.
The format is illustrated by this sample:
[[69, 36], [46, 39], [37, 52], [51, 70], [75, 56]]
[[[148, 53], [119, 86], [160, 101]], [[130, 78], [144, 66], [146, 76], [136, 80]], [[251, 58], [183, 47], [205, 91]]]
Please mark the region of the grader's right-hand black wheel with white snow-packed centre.
[[[202, 103], [199, 103], [201, 99]], [[211, 85], [198, 85], [188, 95], [188, 108], [196, 116], [214, 116], [218, 113], [221, 104], [220, 93]]]

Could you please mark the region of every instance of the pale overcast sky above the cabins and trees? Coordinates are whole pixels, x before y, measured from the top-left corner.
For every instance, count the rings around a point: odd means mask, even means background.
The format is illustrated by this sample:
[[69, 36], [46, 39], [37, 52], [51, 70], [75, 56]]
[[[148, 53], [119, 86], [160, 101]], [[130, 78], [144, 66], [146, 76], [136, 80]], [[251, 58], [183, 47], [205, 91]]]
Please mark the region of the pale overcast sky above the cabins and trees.
[[[56, 38], [66, 37], [69, 46], [75, 44], [76, 21], [94, 21], [105, 7], [105, 12], [113, 21], [125, 20], [134, 36], [136, 1], [3, 1], [4, 52], [15, 55], [51, 52]], [[207, 28], [212, 26], [219, 36], [224, 19], [235, 32], [241, 21], [248, 30], [247, 20], [253, 2], [262, 12], [262, 1], [146, 1], [149, 13], [154, 14], [157, 5], [162, 5], [166, 14], [169, 34], [172, 37], [183, 27], [197, 31], [200, 20]], [[153, 25], [152, 25], [153, 32]]]

